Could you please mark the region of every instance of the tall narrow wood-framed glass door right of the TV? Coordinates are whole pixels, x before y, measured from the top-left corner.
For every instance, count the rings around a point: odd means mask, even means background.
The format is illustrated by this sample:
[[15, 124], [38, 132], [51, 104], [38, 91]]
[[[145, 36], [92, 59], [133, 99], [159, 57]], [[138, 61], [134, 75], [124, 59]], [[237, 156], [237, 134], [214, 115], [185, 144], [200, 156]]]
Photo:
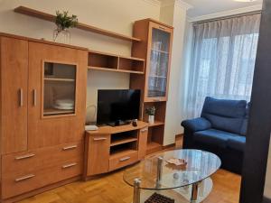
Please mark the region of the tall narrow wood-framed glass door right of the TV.
[[149, 23], [145, 102], [167, 100], [173, 30]]

